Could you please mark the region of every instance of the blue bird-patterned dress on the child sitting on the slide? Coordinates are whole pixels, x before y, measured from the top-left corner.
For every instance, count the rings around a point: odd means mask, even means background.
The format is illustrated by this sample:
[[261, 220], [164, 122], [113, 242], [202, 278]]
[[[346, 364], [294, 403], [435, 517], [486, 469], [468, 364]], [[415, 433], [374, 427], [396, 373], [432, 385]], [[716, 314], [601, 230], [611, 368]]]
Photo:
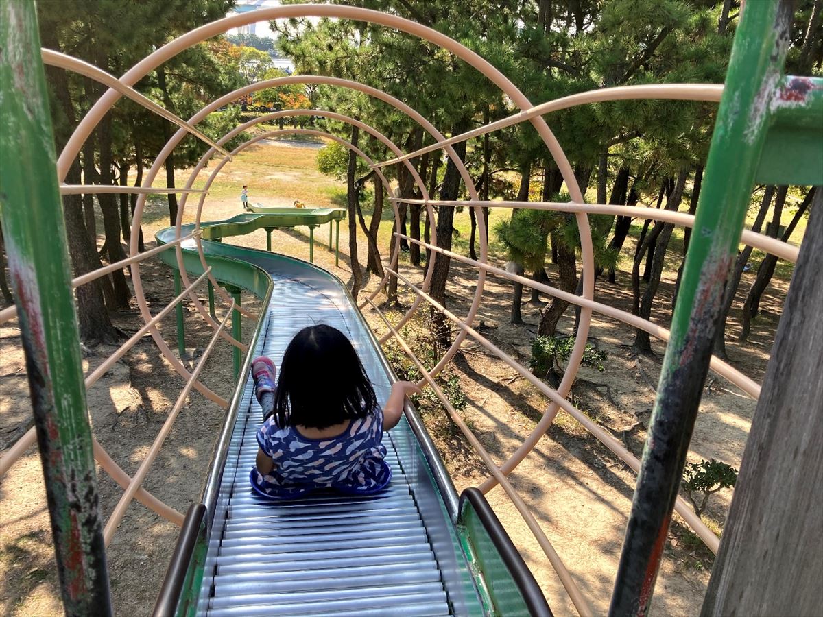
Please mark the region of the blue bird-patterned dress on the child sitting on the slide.
[[274, 417], [263, 422], [257, 433], [258, 445], [274, 461], [272, 471], [263, 475], [253, 467], [252, 488], [270, 499], [300, 497], [314, 489], [337, 489], [350, 494], [371, 494], [382, 490], [392, 479], [384, 461], [383, 411], [351, 420], [337, 437], [311, 439], [293, 426], [281, 429]]

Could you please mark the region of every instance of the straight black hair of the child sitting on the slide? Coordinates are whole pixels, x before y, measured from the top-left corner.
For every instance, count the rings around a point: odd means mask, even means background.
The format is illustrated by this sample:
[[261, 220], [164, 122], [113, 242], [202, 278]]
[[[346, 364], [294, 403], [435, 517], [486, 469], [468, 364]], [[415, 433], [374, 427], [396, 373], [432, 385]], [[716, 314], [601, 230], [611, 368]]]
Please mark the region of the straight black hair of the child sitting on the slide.
[[291, 339], [280, 365], [274, 421], [326, 429], [377, 407], [363, 364], [346, 335], [324, 323]]

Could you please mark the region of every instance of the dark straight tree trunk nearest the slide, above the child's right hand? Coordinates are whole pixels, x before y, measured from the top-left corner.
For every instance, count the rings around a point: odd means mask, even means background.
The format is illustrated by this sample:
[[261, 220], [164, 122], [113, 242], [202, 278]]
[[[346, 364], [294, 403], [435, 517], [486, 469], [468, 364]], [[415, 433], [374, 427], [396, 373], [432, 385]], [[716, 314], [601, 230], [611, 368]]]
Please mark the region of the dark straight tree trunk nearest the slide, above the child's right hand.
[[[460, 119], [454, 123], [452, 134], [457, 135], [466, 130], [468, 123]], [[466, 142], [461, 141], [454, 145], [454, 151], [460, 160], [466, 159]], [[460, 190], [460, 174], [453, 160], [449, 159], [446, 165], [446, 174], [443, 179], [443, 186], [440, 188], [440, 198], [444, 202], [450, 202], [458, 197]], [[452, 234], [454, 231], [454, 208], [441, 206], [437, 213], [437, 245], [440, 248], [451, 250]], [[430, 295], [440, 304], [446, 306], [446, 280], [449, 277], [449, 257], [439, 254], [434, 259], [434, 271], [431, 276]], [[451, 344], [451, 328], [449, 320], [435, 308], [431, 308], [431, 326], [437, 344], [445, 349]]]

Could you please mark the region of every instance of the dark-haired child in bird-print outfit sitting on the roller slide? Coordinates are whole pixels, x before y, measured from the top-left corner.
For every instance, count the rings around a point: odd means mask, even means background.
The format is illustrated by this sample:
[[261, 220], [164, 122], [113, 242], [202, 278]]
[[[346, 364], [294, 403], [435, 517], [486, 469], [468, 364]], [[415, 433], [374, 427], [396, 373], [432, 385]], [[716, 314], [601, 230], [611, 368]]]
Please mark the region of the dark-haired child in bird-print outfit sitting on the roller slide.
[[388, 485], [392, 470], [380, 442], [398, 424], [404, 397], [421, 393], [414, 383], [394, 383], [381, 410], [351, 342], [325, 324], [291, 340], [277, 386], [272, 360], [256, 358], [252, 373], [263, 407], [249, 476], [258, 494], [291, 499], [322, 488], [372, 494]]

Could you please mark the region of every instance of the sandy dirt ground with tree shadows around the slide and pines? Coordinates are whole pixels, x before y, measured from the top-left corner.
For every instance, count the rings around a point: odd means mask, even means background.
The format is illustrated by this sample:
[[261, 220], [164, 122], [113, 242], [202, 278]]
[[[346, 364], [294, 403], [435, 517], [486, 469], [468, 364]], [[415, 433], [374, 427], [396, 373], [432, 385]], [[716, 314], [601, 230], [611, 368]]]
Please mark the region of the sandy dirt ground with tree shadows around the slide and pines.
[[[155, 202], [148, 209], [147, 220], [155, 221], [152, 229], [163, 226], [162, 211], [161, 202]], [[238, 213], [239, 203], [235, 198], [226, 197], [207, 202], [203, 219], [221, 220]], [[315, 232], [315, 262], [343, 281], [351, 276], [346, 227], [344, 222], [340, 267], [335, 267], [334, 254], [326, 246], [327, 228]], [[146, 239], [153, 237], [149, 231], [146, 229]], [[308, 257], [308, 230], [275, 231], [272, 239], [274, 250]], [[260, 230], [226, 241], [265, 248], [266, 236]], [[151, 247], [153, 243], [148, 245]], [[363, 262], [365, 241], [359, 245]], [[156, 312], [174, 297], [171, 272], [156, 259], [146, 262], [142, 271], [146, 296]], [[406, 264], [402, 272], [412, 281], [422, 279], [422, 271], [417, 267]], [[551, 269], [549, 273], [554, 276]], [[625, 271], [618, 277], [617, 285], [598, 281], [596, 299], [628, 310], [631, 295], [624, 286]], [[476, 281], [475, 271], [452, 263], [448, 303], [454, 313], [466, 313]], [[376, 277], [371, 277], [367, 289], [373, 289], [376, 283]], [[751, 273], [746, 273], [741, 289], [747, 290], [750, 283]], [[670, 318], [672, 287], [672, 277], [664, 278], [653, 312], [654, 320], [664, 326]], [[785, 284], [774, 281], [763, 299], [763, 313], [754, 322], [746, 346], [734, 342], [728, 345], [732, 365], [756, 381], [762, 380], [765, 371], [785, 288]], [[205, 304], [205, 287], [198, 289], [198, 296]], [[478, 320], [482, 320], [483, 332], [492, 342], [521, 364], [528, 364], [540, 305], [524, 302], [523, 318], [527, 323], [514, 326], [509, 323], [510, 298], [509, 282], [491, 276], [486, 282]], [[412, 296], [403, 295], [402, 301], [411, 304]], [[251, 296], [244, 295], [243, 304], [255, 312], [259, 309]], [[220, 308], [218, 313], [220, 317]], [[190, 303], [186, 304], [186, 315], [186, 346], [193, 355], [193, 360], [187, 361], [193, 366], [212, 330]], [[367, 312], [366, 316], [373, 327], [382, 332], [374, 313]], [[735, 318], [737, 313], [732, 315], [732, 332], [738, 327]], [[142, 325], [136, 311], [122, 313], [116, 321], [129, 334]], [[251, 322], [244, 320], [244, 341], [249, 340], [251, 327]], [[570, 309], [561, 320], [559, 330], [572, 333], [573, 327], [574, 313]], [[165, 340], [176, 349], [173, 315], [163, 322], [161, 330]], [[630, 327], [594, 316], [590, 341], [607, 353], [607, 362], [602, 373], [581, 369], [579, 377], [585, 382], [576, 390], [576, 401], [590, 417], [621, 438], [626, 447], [639, 456], [664, 348], [656, 343], [653, 357], [636, 357], [630, 349], [633, 337]], [[110, 346], [84, 350], [84, 369], [99, 365], [112, 350], [114, 347]], [[204, 383], [223, 397], [230, 396], [234, 384], [230, 356], [230, 347], [218, 344], [202, 373]], [[545, 397], [476, 342], [463, 343], [453, 366], [468, 399], [462, 412], [464, 419], [495, 460], [503, 462], [545, 411]], [[146, 336], [91, 388], [89, 409], [95, 436], [130, 475], [142, 462], [183, 384], [184, 380], [160, 357], [151, 337]], [[690, 461], [714, 457], [739, 468], [754, 410], [754, 401], [736, 387], [722, 378], [710, 378], [695, 426]], [[201, 494], [224, 413], [200, 394], [191, 394], [160, 457], [151, 466], [145, 488], [185, 512]], [[9, 322], [0, 328], [0, 450], [14, 443], [30, 424], [20, 332], [16, 322]], [[477, 457], [467, 452], [462, 438], [442, 431], [433, 430], [433, 433], [458, 491], [486, 478], [486, 471]], [[101, 505], [108, 515], [122, 489], [98, 471]], [[605, 614], [630, 511], [635, 474], [574, 419], [561, 412], [537, 449], [514, 471], [511, 480], [597, 613]], [[500, 488], [493, 489], [488, 499], [535, 573], [556, 615], [574, 614], [555, 573], [509, 499]], [[730, 499], [731, 490], [727, 489], [715, 494], [709, 502], [706, 518], [718, 529], [723, 527]], [[62, 608], [36, 447], [26, 452], [2, 479], [0, 529], [0, 615], [60, 615]], [[128, 613], [135, 617], [150, 614], [177, 535], [177, 527], [142, 504], [134, 502], [128, 508], [108, 551], [115, 614]], [[653, 615], [693, 615], [700, 610], [709, 579], [711, 554], [678, 522], [672, 527], [665, 553], [654, 595]]]

